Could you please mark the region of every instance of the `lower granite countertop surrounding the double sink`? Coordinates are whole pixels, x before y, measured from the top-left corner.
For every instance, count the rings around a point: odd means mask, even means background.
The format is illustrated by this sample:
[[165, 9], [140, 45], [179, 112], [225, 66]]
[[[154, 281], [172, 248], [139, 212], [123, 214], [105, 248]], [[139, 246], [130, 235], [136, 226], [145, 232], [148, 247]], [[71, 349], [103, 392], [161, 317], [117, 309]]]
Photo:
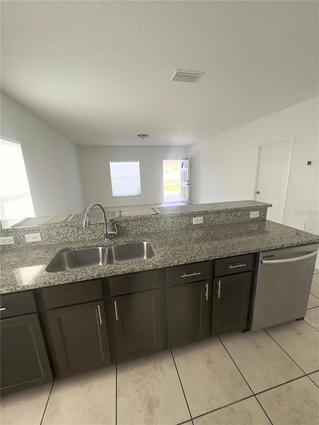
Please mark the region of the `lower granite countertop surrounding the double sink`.
[[[149, 241], [154, 257], [67, 272], [45, 271], [60, 251], [133, 241]], [[262, 220], [122, 236], [109, 243], [96, 239], [89, 244], [69, 242], [21, 247], [1, 254], [0, 292], [34, 289], [316, 242], [319, 242], [319, 236]]]

